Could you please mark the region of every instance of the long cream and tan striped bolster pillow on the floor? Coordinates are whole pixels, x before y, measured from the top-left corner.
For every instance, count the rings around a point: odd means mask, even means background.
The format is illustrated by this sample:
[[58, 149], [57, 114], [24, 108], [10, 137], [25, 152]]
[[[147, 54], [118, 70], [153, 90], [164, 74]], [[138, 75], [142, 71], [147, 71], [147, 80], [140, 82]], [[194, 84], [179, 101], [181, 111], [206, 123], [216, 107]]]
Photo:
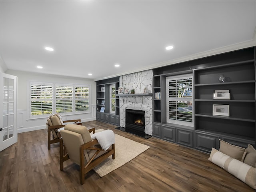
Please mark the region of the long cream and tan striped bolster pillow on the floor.
[[212, 152], [208, 160], [255, 189], [256, 177], [254, 167], [236, 160], [214, 148], [212, 148]]

